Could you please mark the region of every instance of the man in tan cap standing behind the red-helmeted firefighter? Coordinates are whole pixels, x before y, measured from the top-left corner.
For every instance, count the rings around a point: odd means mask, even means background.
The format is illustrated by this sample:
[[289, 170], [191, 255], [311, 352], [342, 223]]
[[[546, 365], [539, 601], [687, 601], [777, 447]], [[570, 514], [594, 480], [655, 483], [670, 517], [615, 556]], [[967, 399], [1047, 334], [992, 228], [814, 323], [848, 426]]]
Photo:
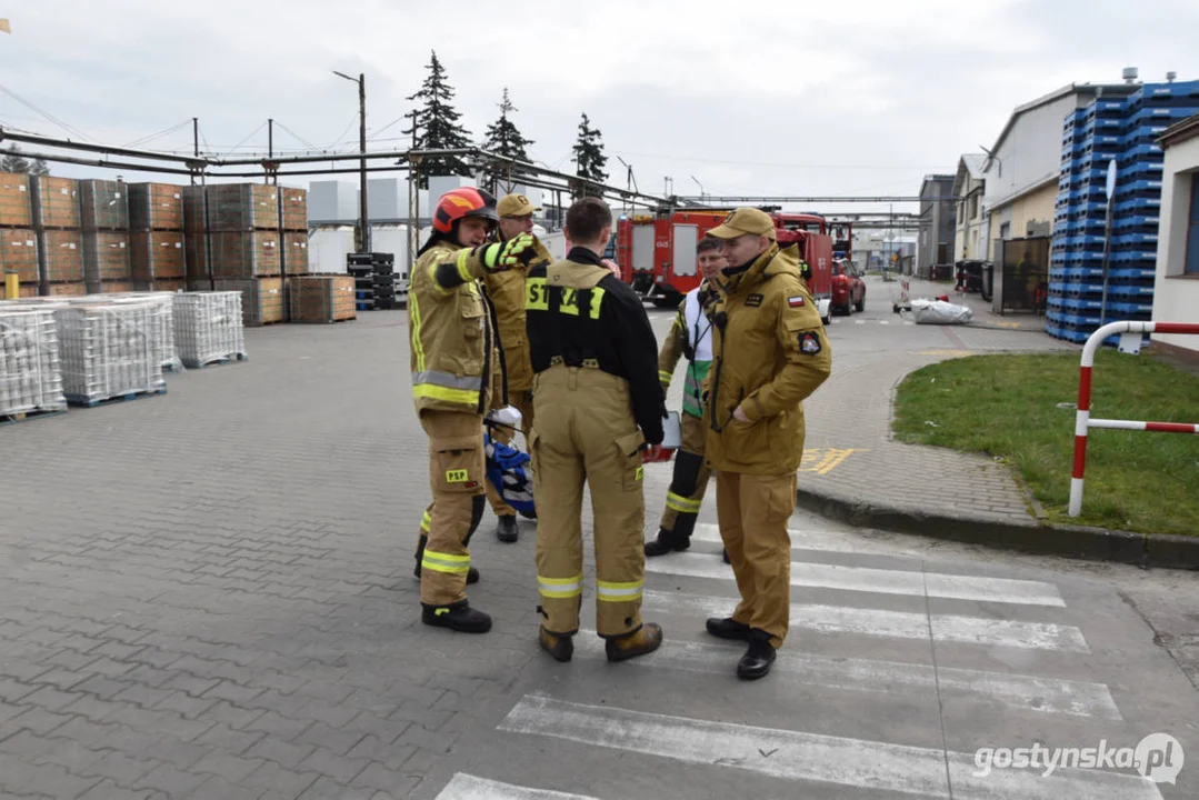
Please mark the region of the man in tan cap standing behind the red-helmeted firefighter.
[[[499, 227], [492, 234], [493, 241], [510, 241], [522, 234], [532, 237], [536, 251], [531, 264], [549, 264], [554, 257], [549, 254], [541, 240], [532, 234], [532, 215], [541, 211], [524, 194], [507, 194], [498, 206]], [[504, 363], [507, 368], [510, 405], [514, 405], [522, 416], [522, 428], [532, 427], [532, 367], [529, 365], [529, 343], [525, 339], [524, 279], [528, 269], [518, 266], [502, 272], [495, 272], [483, 278], [487, 296], [495, 307], [495, 319], [499, 325], [500, 347], [504, 350]], [[492, 437], [505, 444], [511, 443], [516, 432], [502, 427], [492, 427]], [[525, 437], [528, 439], [528, 435]], [[492, 511], [498, 517], [495, 536], [501, 542], [512, 543], [519, 537], [517, 512], [504, 501], [500, 493], [490, 483], [487, 486], [487, 499]]]

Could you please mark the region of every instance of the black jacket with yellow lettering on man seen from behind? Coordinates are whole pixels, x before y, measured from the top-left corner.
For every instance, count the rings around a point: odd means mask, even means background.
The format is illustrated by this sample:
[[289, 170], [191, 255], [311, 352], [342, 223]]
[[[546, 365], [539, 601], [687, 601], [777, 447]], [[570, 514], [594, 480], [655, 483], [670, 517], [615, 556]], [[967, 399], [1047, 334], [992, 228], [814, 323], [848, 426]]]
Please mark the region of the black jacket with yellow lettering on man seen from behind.
[[[585, 247], [572, 248], [566, 259], [602, 266], [600, 257]], [[530, 291], [535, 291], [531, 287], [544, 285], [547, 270], [546, 264], [540, 264], [529, 271], [526, 284], [530, 284]], [[659, 444], [662, 419], [667, 413], [665, 397], [658, 381], [658, 343], [645, 307], [632, 287], [614, 275], [604, 276], [596, 288], [603, 289], [596, 319], [588, 313], [558, 312], [564, 299], [561, 287], [546, 287], [544, 307], [535, 302], [525, 303], [525, 331], [532, 371], [549, 369], [554, 356], [561, 356], [567, 366], [579, 366], [585, 359], [595, 359], [603, 372], [628, 380], [633, 417], [645, 440]], [[579, 307], [591, 307], [590, 291], [578, 290]]]

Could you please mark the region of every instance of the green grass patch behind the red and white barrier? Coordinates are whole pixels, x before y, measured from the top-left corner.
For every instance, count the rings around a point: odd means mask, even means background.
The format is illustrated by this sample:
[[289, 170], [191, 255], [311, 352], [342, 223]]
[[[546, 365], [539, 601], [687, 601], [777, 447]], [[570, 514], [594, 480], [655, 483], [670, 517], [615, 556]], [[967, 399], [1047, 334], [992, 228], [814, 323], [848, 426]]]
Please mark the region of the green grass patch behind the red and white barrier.
[[[1199, 533], [1199, 435], [1092, 428], [1083, 513], [1066, 515], [1074, 453], [1078, 354], [982, 355], [911, 373], [896, 398], [896, 435], [998, 456], [1050, 522], [1146, 534]], [[1068, 408], [1058, 408], [1070, 403]], [[1103, 349], [1092, 416], [1199, 422], [1199, 375], [1149, 354]], [[933, 425], [929, 425], [932, 422]]]

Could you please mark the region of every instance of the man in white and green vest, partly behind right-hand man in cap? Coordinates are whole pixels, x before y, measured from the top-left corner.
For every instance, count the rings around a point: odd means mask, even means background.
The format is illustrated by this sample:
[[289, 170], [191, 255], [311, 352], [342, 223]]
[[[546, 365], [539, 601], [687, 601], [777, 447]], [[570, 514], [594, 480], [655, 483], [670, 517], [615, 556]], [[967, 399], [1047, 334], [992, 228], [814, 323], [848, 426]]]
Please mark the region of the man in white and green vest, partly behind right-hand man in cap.
[[695, 251], [704, 279], [683, 297], [658, 354], [658, 380], [663, 391], [670, 386], [681, 356], [687, 357], [687, 373], [682, 393], [682, 446], [675, 455], [674, 476], [657, 539], [645, 543], [645, 554], [650, 558], [691, 547], [691, 534], [712, 474], [704, 464], [704, 384], [712, 366], [712, 321], [704, 313], [704, 305], [716, 291], [725, 263], [718, 239], [704, 239]]

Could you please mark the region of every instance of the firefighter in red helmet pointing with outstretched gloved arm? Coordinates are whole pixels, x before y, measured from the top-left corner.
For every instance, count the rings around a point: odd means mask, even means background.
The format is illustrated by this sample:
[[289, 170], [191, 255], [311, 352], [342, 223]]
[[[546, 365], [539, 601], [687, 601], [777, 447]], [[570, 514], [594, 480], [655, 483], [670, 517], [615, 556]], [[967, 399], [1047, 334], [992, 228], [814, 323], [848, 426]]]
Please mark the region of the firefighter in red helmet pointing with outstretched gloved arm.
[[499, 399], [493, 381], [505, 389], [494, 309], [480, 278], [528, 263], [535, 253], [530, 236], [487, 243], [498, 219], [495, 198], [482, 190], [442, 194], [408, 293], [412, 396], [429, 437], [433, 489], [416, 553], [421, 621], [466, 633], [492, 627], [490, 616], [470, 607], [465, 584], [468, 545], [484, 505], [483, 414]]

